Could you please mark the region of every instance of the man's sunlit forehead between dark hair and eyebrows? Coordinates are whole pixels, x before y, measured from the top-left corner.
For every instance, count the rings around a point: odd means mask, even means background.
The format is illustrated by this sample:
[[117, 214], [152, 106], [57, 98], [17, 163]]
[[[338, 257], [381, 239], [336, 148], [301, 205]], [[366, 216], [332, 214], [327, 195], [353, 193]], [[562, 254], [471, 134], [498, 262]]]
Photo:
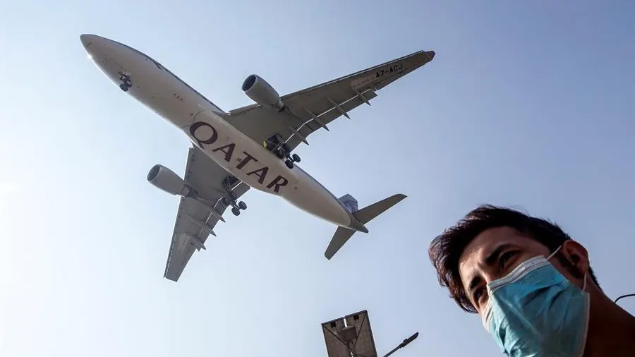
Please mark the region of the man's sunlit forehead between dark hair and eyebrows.
[[463, 250], [459, 258], [459, 273], [464, 282], [471, 278], [471, 271], [483, 265], [494, 250], [500, 246], [530, 248], [538, 242], [511, 227], [503, 226], [485, 229], [476, 236]]

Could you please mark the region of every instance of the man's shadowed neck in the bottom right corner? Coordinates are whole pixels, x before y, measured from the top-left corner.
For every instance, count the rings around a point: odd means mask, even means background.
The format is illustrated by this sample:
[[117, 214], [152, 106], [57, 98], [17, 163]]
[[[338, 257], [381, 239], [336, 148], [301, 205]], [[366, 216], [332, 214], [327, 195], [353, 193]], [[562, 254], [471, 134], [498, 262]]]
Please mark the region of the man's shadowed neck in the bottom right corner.
[[596, 297], [591, 301], [584, 357], [635, 356], [635, 317], [604, 294]]

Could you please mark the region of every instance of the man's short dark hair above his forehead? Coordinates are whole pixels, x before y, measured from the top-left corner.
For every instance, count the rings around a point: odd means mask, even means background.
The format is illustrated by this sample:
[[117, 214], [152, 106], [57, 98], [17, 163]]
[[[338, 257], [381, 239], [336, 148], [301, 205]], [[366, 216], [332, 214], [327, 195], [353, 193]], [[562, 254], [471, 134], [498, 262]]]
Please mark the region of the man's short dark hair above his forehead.
[[[546, 219], [531, 217], [528, 214], [504, 207], [480, 205], [468, 212], [454, 226], [446, 229], [430, 243], [428, 254], [432, 261], [441, 286], [447, 287], [454, 301], [468, 313], [476, 313], [476, 308], [468, 298], [459, 274], [459, 258], [468, 244], [481, 232], [490, 228], [507, 226], [521, 234], [533, 238], [549, 248], [551, 252], [571, 239], [560, 226]], [[589, 275], [598, 284], [595, 274], [589, 267]]]

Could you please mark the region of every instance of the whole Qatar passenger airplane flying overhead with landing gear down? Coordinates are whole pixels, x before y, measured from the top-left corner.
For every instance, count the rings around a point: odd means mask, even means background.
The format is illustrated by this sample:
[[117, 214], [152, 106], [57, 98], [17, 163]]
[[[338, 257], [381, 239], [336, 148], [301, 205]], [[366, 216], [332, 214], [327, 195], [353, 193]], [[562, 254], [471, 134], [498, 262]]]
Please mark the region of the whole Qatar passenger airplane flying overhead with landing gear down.
[[255, 102], [223, 111], [209, 99], [138, 49], [92, 34], [80, 35], [89, 58], [119, 88], [169, 121], [192, 142], [184, 177], [161, 164], [147, 181], [180, 196], [164, 278], [177, 282], [195, 251], [205, 250], [228, 207], [238, 216], [239, 201], [250, 188], [277, 195], [299, 209], [337, 226], [325, 257], [330, 260], [358, 231], [401, 200], [392, 195], [358, 208], [346, 194], [337, 198], [298, 167], [292, 151], [307, 137], [362, 104], [377, 91], [433, 60], [419, 51], [335, 80], [280, 96], [259, 75], [249, 75], [243, 92]]

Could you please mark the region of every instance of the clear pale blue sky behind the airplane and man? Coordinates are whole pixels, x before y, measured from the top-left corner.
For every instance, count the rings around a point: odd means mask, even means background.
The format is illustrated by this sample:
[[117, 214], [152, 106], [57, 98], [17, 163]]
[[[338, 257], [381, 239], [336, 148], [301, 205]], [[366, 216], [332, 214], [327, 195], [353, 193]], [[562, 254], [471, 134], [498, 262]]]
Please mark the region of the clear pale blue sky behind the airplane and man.
[[[368, 309], [380, 356], [415, 331], [395, 357], [496, 356], [428, 260], [483, 202], [555, 219], [609, 296], [634, 292], [635, 5], [511, 2], [4, 1], [0, 355], [323, 357], [320, 322]], [[99, 73], [84, 32], [225, 110], [250, 73], [286, 93], [434, 49], [298, 149], [336, 195], [409, 198], [327, 261], [333, 226], [253, 191], [163, 279], [178, 199], [145, 176], [182, 174], [190, 143]]]

